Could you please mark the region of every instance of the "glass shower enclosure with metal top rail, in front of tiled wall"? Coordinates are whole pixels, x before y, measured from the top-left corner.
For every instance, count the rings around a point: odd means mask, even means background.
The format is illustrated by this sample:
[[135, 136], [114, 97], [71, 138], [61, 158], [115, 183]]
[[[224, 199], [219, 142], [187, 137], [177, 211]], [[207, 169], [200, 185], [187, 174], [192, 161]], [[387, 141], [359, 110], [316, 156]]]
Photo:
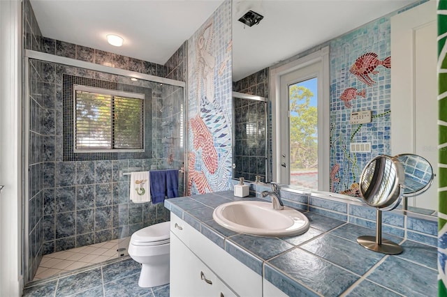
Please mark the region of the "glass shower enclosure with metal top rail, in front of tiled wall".
[[[179, 169], [179, 195], [184, 195], [185, 83], [41, 52], [25, 55], [27, 283], [35, 280], [45, 255], [114, 241], [117, 254], [109, 259], [121, 257], [134, 231], [169, 220], [162, 203], [129, 200], [130, 172]], [[75, 85], [142, 94], [144, 148], [74, 152]]]

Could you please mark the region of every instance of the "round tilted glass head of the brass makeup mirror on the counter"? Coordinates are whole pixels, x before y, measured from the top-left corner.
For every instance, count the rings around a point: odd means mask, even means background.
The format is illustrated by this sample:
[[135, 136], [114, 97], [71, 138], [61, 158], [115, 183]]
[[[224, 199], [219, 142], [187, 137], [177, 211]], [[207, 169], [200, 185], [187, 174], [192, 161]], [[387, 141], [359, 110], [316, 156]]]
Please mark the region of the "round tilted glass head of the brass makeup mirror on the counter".
[[404, 180], [404, 168], [397, 158], [378, 155], [363, 169], [360, 194], [369, 206], [390, 211], [400, 203]]

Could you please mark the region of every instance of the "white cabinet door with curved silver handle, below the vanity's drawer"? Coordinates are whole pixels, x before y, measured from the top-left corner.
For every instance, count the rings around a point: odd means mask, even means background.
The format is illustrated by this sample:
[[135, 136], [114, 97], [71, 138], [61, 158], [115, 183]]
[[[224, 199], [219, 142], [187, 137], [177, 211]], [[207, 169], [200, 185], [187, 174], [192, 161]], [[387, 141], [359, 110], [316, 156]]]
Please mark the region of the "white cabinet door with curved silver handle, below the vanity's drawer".
[[170, 296], [236, 296], [189, 248], [170, 233]]

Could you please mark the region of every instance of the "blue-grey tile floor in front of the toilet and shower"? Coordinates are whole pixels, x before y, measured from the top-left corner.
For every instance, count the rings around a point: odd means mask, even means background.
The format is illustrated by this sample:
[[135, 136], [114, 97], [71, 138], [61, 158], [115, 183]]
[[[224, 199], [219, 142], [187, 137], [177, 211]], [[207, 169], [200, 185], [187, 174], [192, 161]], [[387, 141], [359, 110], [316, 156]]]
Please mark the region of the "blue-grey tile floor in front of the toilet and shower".
[[169, 297], [169, 284], [153, 287], [138, 287], [141, 266], [129, 256], [120, 257], [78, 271], [52, 277], [49, 280], [32, 282], [26, 287], [23, 297]]

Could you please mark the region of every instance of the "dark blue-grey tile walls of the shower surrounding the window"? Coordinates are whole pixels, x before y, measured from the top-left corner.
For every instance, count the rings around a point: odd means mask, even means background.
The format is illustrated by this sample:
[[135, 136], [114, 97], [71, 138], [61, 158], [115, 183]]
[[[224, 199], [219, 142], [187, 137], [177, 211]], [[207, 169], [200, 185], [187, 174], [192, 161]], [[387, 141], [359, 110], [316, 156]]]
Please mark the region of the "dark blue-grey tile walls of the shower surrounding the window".
[[[159, 65], [46, 38], [42, 36], [29, 0], [23, 1], [22, 15], [25, 49], [186, 80], [186, 43], [166, 65]], [[105, 155], [97, 160], [64, 160], [64, 75], [152, 89], [152, 104], [149, 106], [152, 136], [148, 136], [150, 130], [146, 136], [152, 139], [147, 148], [150, 154], [139, 160], [114, 160], [116, 158]], [[34, 277], [43, 254], [130, 236], [144, 226], [168, 220], [168, 211], [163, 206], [148, 203], [138, 208], [131, 207], [129, 177], [120, 178], [119, 170], [128, 172], [132, 167], [149, 170], [184, 166], [184, 153], [177, 149], [184, 142], [182, 88], [131, 82], [126, 77], [30, 59], [29, 90], [30, 248], [26, 282]], [[162, 121], [166, 119], [173, 124], [164, 125]], [[182, 176], [179, 178], [179, 192], [184, 192]]]

